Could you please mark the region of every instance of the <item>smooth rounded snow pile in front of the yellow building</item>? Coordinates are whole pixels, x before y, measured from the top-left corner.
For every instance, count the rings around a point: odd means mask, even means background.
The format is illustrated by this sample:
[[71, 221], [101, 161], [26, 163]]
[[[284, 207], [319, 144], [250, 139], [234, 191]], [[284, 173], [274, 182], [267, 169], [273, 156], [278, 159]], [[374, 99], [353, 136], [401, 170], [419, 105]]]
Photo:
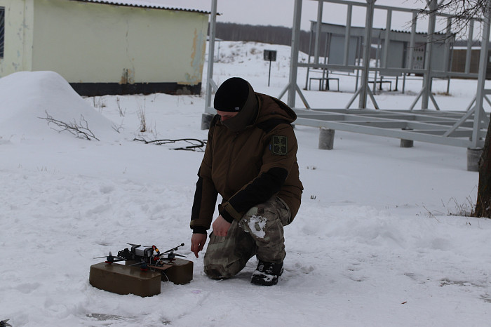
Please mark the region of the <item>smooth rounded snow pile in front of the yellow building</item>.
[[[116, 137], [112, 122], [83, 100], [55, 72], [17, 72], [0, 79], [0, 138], [32, 140], [57, 138], [63, 126], [88, 128], [96, 138]], [[64, 125], [65, 126], [65, 125]], [[63, 133], [69, 133], [65, 131]]]

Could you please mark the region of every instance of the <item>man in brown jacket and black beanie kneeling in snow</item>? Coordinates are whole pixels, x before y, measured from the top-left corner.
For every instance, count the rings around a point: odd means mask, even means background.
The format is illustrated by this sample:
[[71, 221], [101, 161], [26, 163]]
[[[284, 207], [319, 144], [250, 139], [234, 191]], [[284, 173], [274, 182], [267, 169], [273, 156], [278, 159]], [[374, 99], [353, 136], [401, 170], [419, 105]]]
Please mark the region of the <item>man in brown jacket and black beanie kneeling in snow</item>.
[[218, 88], [214, 106], [191, 212], [191, 251], [198, 258], [203, 250], [220, 194], [205, 273], [227, 279], [256, 255], [251, 282], [276, 285], [286, 255], [283, 226], [295, 218], [303, 190], [291, 126], [297, 115], [238, 77]]

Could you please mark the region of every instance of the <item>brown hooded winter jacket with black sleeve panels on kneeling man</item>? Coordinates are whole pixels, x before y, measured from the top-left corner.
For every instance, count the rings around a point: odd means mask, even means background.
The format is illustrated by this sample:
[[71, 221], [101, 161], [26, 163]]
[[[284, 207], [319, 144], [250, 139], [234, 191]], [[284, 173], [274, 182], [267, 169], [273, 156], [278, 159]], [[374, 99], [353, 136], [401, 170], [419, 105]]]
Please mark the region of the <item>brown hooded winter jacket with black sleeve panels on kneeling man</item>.
[[240, 132], [213, 119], [199, 168], [191, 212], [191, 229], [206, 234], [222, 196], [219, 213], [232, 222], [251, 207], [280, 197], [295, 218], [302, 197], [297, 163], [297, 139], [290, 125], [297, 115], [269, 95], [255, 93], [259, 112], [255, 122]]

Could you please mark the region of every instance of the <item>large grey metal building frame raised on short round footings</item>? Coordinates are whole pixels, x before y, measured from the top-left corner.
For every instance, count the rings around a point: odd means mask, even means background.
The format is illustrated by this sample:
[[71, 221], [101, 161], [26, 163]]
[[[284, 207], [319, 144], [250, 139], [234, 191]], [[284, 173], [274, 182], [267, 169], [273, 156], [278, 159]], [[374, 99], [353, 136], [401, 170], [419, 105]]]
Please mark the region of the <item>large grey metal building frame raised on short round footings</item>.
[[[416, 140], [421, 142], [431, 142], [440, 145], [452, 145], [457, 147], [467, 147], [468, 149], [482, 149], [484, 145], [485, 135], [487, 133], [487, 126], [489, 119], [484, 112], [483, 103], [486, 101], [491, 105], [491, 101], [487, 98], [487, 95], [491, 93], [491, 90], [485, 90], [485, 67], [487, 66], [487, 51], [490, 37], [490, 8], [491, 0], [487, 0], [487, 15], [482, 19], [482, 42], [480, 51], [479, 73], [477, 74], [478, 83], [476, 89], [476, 96], [467, 108], [462, 108], [462, 111], [448, 111], [440, 110], [436, 100], [431, 94], [431, 82], [433, 77], [441, 76], [442, 72], [436, 72], [431, 67], [432, 57], [432, 45], [434, 44], [433, 37], [435, 35], [436, 17], [437, 13], [431, 11], [428, 13], [429, 26], [426, 37], [425, 46], [425, 60], [424, 68], [419, 69], [423, 75], [422, 89], [416, 96], [414, 102], [409, 109], [393, 108], [393, 109], [379, 109], [375, 98], [368, 86], [368, 79], [370, 72], [378, 71], [390, 71], [390, 67], [382, 65], [382, 67], [370, 67], [370, 46], [363, 46], [363, 63], [361, 67], [359, 65], [349, 65], [349, 42], [351, 39], [351, 11], [353, 6], [365, 7], [365, 29], [363, 35], [363, 44], [371, 44], [373, 17], [375, 9], [386, 11], [386, 29], [385, 37], [386, 46], [383, 53], [384, 60], [382, 62], [389, 62], [387, 60], [390, 31], [391, 31], [391, 17], [393, 11], [404, 11], [412, 13], [412, 27], [410, 36], [410, 51], [415, 48], [416, 39], [416, 18], [417, 13], [420, 10], [408, 9], [408, 8], [396, 8], [391, 6], [376, 6], [376, 0], [365, 0], [365, 3], [345, 0], [310, 0], [318, 1], [318, 15], [316, 27], [318, 28], [317, 36], [320, 36], [322, 26], [322, 11], [324, 4], [343, 4], [347, 6], [347, 24], [345, 30], [345, 43], [344, 43], [344, 65], [328, 65], [319, 62], [318, 54], [318, 39], [316, 40], [314, 50], [314, 62], [304, 63], [299, 62], [299, 47], [300, 47], [300, 22], [302, 14], [302, 1], [295, 0], [294, 17], [292, 25], [292, 46], [290, 55], [290, 77], [288, 85], [285, 86], [278, 98], [282, 98], [283, 95], [288, 93], [287, 104], [292, 107], [297, 113], [296, 124], [312, 126], [318, 128], [328, 128], [331, 130], [349, 131], [353, 133], [363, 133], [368, 135], [379, 135], [390, 138], [400, 138], [403, 140]], [[437, 8], [437, 0], [426, 0], [430, 9]], [[210, 15], [210, 48], [209, 58], [213, 58], [213, 42], [215, 39], [215, 15], [217, 9], [217, 0], [212, 0], [212, 15]], [[448, 26], [447, 33], [451, 34], [451, 20], [450, 15], [438, 14], [447, 18]], [[476, 20], [479, 20], [476, 18]], [[358, 31], [359, 32], [359, 31]], [[472, 39], [473, 21], [469, 26], [469, 39]], [[370, 41], [367, 41], [370, 40]], [[470, 42], [469, 42], [470, 44]], [[468, 51], [470, 53], [470, 51]], [[408, 62], [408, 67], [412, 67], [411, 58]], [[470, 61], [470, 55], [467, 60]], [[468, 66], [466, 62], [466, 66]], [[297, 70], [299, 67], [305, 68], [324, 68], [324, 69], [360, 69], [361, 81], [360, 87], [354, 93], [353, 97], [349, 101], [346, 107], [342, 109], [312, 109], [307, 99], [302, 94], [300, 87], [297, 84]], [[448, 67], [448, 65], [445, 65]], [[414, 72], [413, 68], [399, 68], [398, 72], [405, 73]], [[466, 73], [469, 72], [466, 67]], [[448, 72], [444, 72], [447, 74]], [[460, 73], [462, 74], [462, 73]], [[469, 76], [469, 75], [467, 75]], [[476, 74], [473, 74], [476, 76]], [[217, 85], [213, 81], [213, 60], [208, 60], [208, 80], [206, 86], [206, 113], [212, 114], [215, 111], [213, 107], [210, 107], [211, 93], [216, 90]], [[328, 93], [327, 93], [328, 94]], [[296, 107], [295, 99], [297, 95], [303, 102], [304, 107]], [[370, 97], [372, 103], [375, 105], [375, 109], [367, 108], [367, 98]], [[350, 109], [354, 100], [358, 100], [358, 108]], [[421, 100], [421, 109], [413, 109], [415, 104]], [[433, 102], [436, 110], [429, 109], [429, 101]]]

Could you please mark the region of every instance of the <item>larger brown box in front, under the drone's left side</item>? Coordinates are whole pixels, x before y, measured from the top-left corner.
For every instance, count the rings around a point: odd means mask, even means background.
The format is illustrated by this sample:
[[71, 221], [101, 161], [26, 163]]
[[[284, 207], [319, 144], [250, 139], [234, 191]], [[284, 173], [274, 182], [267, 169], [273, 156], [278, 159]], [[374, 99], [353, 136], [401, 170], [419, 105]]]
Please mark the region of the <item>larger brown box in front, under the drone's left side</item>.
[[104, 291], [145, 297], [160, 294], [161, 273], [101, 262], [90, 266], [89, 282]]

